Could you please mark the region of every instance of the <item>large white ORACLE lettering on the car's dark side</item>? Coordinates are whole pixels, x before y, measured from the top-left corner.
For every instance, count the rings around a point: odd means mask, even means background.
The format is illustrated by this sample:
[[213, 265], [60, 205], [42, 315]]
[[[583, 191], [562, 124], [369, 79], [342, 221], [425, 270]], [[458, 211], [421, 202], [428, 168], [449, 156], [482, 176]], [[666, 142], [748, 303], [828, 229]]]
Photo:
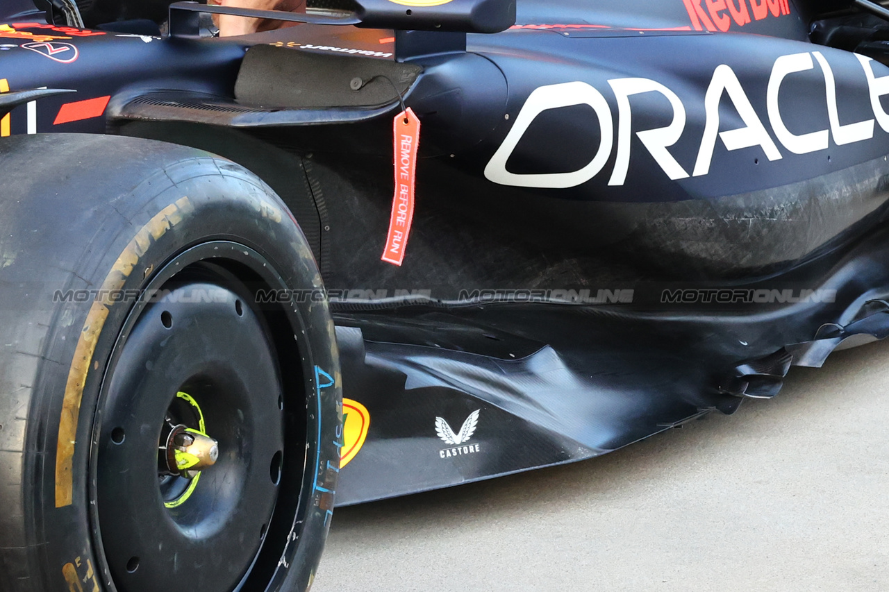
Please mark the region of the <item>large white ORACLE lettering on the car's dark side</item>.
[[[814, 68], [818, 62], [824, 76], [824, 86], [828, 106], [828, 127], [816, 132], [794, 134], [790, 132], [781, 117], [778, 98], [784, 78], [795, 72], [803, 72]], [[877, 124], [885, 132], [889, 132], [889, 114], [880, 104], [880, 97], [889, 94], [889, 76], [877, 77], [873, 71], [873, 60], [855, 54], [861, 62], [868, 81], [870, 105]], [[665, 97], [672, 108], [672, 121], [666, 126], [636, 132], [637, 138], [653, 157], [664, 174], [670, 180], [686, 179], [689, 173], [670, 154], [669, 147], [676, 144], [685, 132], [685, 105], [677, 94], [667, 86], [648, 78], [615, 78], [608, 81], [617, 103], [617, 152], [614, 167], [608, 185], [622, 186], [627, 180], [630, 159], [630, 140], [632, 137], [632, 108], [629, 97], [645, 92], [658, 92]], [[741, 116], [744, 126], [719, 131], [719, 103], [724, 96], [728, 97], [733, 107]], [[600, 128], [600, 142], [596, 155], [588, 164], [573, 172], [553, 172], [537, 174], [521, 174], [509, 172], [506, 164], [513, 151], [522, 140], [525, 132], [542, 112], [573, 105], [589, 105], [596, 113]], [[806, 154], [829, 147], [829, 138], [833, 138], [838, 146], [870, 140], [874, 136], [874, 119], [867, 119], [851, 124], [840, 124], [837, 113], [837, 83], [828, 60], [821, 52], [805, 52], [783, 55], [775, 60], [766, 90], [766, 111], [775, 137], [781, 146], [793, 154]], [[713, 152], [717, 138], [722, 140], [726, 150], [741, 148], [762, 149], [769, 160], [781, 159], [781, 151], [765, 125], [757, 116], [753, 105], [741, 86], [741, 81], [730, 66], [718, 66], [710, 79], [704, 95], [704, 131], [701, 144], [694, 162], [691, 176], [700, 177], [710, 171]], [[614, 119], [612, 109], [601, 92], [585, 82], [575, 81], [561, 84], [549, 84], [535, 89], [525, 100], [525, 104], [516, 117], [516, 123], [509, 130], [500, 148], [485, 166], [485, 178], [500, 185], [527, 188], [572, 188], [582, 185], [596, 177], [611, 157], [614, 145]]]

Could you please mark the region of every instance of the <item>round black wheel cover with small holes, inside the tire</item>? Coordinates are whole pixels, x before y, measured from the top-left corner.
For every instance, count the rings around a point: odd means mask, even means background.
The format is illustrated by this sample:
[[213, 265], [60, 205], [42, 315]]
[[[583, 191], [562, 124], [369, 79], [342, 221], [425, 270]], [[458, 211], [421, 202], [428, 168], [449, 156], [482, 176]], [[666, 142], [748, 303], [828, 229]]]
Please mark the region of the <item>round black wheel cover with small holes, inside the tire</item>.
[[[120, 592], [183, 581], [214, 592], [266, 588], [297, 521], [307, 430], [284, 403], [304, 407], [305, 398], [282, 382], [282, 339], [241, 279], [261, 279], [244, 272], [269, 266], [240, 245], [239, 261], [222, 260], [213, 245], [172, 260], [170, 277], [158, 274], [160, 292], [133, 308], [103, 382], [93, 532]], [[266, 275], [253, 283], [274, 285]], [[177, 443], [200, 436], [218, 442], [218, 458], [179, 467], [170, 447], [196, 452]]]

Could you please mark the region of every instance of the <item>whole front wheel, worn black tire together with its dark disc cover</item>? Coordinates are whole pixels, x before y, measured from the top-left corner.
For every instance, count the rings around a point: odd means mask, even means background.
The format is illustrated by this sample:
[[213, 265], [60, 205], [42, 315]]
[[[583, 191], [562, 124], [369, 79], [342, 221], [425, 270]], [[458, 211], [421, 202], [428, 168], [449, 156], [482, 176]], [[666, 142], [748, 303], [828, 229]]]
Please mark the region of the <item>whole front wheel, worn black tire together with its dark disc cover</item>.
[[[13, 137], [0, 172], [0, 590], [308, 588], [340, 367], [286, 206], [152, 140]], [[154, 444], [183, 389], [220, 443], [191, 497]]]

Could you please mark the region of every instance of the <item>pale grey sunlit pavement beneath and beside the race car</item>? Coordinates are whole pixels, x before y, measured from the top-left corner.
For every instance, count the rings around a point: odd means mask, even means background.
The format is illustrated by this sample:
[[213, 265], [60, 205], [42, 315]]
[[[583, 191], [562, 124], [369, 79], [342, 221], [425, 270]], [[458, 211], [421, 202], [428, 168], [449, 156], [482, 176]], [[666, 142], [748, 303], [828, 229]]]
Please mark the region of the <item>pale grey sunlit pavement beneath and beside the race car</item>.
[[889, 343], [604, 457], [334, 514], [313, 592], [889, 590]]

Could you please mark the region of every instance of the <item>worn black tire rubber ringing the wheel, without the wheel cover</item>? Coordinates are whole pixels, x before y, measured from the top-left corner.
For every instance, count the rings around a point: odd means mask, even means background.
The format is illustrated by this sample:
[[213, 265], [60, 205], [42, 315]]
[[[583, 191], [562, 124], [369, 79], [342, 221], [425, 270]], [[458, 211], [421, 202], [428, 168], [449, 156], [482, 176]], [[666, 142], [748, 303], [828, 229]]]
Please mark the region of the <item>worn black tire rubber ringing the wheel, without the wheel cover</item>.
[[[0, 140], [0, 171], [0, 590], [114, 590], [102, 569], [88, 475], [104, 371], [133, 305], [106, 307], [94, 350], [78, 361], [78, 341], [96, 330], [87, 320], [93, 301], [59, 302], [53, 295], [108, 285], [109, 272], [121, 268], [119, 258], [128, 252], [138, 258], [118, 284], [140, 290], [165, 261], [212, 240], [259, 252], [288, 289], [318, 290], [321, 278], [296, 221], [274, 192], [208, 153], [121, 137], [18, 136]], [[290, 560], [276, 568], [268, 588], [301, 590], [311, 584], [330, 524], [339, 467], [340, 370], [326, 302], [283, 306], [305, 332], [303, 337], [298, 326], [291, 327], [290, 338], [301, 340], [306, 359], [283, 360], [280, 370], [299, 369], [307, 377], [305, 405], [296, 406], [308, 420], [312, 453], [300, 475], [297, 516], [278, 541], [281, 556], [289, 549]], [[57, 455], [63, 401], [76, 393], [69, 376], [77, 364], [87, 373], [73, 414], [66, 504]], [[321, 384], [318, 372], [331, 380]], [[199, 574], [187, 575], [184, 586], [204, 589], [196, 586]]]

